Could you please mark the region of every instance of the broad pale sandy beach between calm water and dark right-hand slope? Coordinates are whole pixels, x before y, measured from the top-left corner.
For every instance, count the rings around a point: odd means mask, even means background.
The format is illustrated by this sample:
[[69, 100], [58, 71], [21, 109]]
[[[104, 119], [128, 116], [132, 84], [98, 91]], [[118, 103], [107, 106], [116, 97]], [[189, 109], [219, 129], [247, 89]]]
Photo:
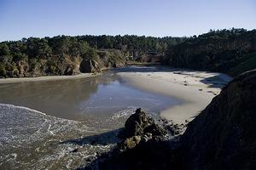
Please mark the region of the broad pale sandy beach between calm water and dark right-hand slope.
[[222, 73], [189, 71], [166, 67], [151, 67], [145, 71], [131, 69], [119, 72], [128, 83], [137, 88], [172, 96], [180, 100], [180, 105], [160, 112], [167, 120], [181, 124], [191, 121], [232, 80]]

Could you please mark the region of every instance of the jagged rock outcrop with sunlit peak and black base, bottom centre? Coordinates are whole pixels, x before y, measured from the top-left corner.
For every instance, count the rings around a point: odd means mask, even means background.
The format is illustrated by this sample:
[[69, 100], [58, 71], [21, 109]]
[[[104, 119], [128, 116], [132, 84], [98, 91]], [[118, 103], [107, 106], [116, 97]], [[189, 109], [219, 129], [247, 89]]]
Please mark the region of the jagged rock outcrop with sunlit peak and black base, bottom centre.
[[119, 133], [123, 141], [117, 148], [85, 169], [165, 169], [172, 156], [166, 133], [152, 117], [137, 109]]

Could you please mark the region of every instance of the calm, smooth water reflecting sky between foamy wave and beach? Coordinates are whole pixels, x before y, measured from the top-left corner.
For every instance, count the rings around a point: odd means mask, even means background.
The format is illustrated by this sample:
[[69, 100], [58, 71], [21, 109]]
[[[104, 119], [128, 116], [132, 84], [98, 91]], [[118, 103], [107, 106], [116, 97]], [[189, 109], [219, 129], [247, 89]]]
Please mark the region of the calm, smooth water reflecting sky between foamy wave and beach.
[[[124, 69], [121, 69], [124, 71]], [[101, 121], [141, 107], [154, 116], [177, 105], [177, 99], [131, 87], [116, 73], [98, 77], [0, 84], [0, 103], [21, 105], [75, 121]]]

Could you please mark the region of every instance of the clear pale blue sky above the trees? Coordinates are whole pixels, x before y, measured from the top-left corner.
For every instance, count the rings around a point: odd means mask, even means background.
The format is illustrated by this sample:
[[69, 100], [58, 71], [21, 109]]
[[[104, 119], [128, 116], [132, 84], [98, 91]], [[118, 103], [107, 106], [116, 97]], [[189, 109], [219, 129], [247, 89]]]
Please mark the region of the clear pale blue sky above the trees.
[[256, 0], [0, 0], [0, 42], [58, 35], [183, 37], [256, 29]]

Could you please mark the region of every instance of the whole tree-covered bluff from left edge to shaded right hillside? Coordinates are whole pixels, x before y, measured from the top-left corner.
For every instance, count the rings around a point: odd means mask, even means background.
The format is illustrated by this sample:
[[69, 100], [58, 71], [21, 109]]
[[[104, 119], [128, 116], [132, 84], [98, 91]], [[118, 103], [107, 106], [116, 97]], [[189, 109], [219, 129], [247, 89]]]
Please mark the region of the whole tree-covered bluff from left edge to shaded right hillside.
[[168, 46], [186, 39], [102, 35], [30, 37], [0, 42], [0, 77], [73, 75], [80, 71], [101, 71], [103, 67], [124, 65], [127, 56], [152, 51], [163, 53]]

